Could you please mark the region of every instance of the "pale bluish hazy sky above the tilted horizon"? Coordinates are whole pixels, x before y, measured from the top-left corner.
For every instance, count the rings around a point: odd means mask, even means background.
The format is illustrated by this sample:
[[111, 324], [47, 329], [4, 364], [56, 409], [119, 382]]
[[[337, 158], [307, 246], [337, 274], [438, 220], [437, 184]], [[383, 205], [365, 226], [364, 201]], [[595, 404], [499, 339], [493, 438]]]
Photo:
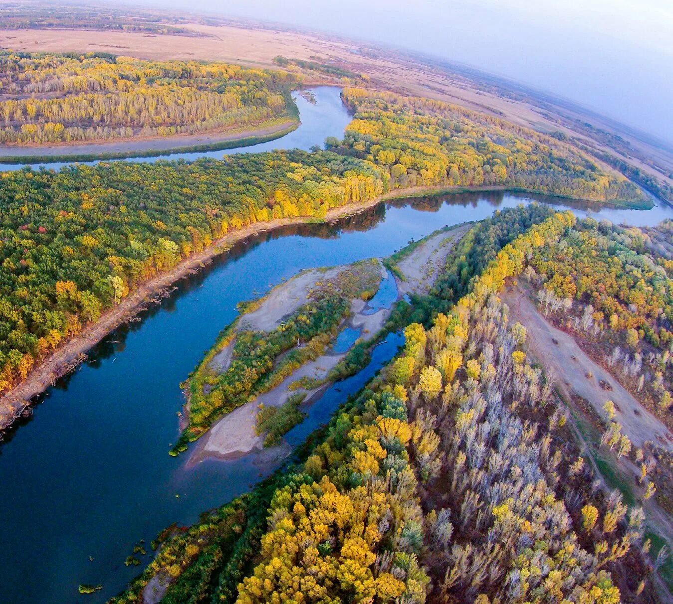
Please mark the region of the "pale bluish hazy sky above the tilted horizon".
[[673, 142], [672, 0], [159, 3], [419, 50], [552, 91]]

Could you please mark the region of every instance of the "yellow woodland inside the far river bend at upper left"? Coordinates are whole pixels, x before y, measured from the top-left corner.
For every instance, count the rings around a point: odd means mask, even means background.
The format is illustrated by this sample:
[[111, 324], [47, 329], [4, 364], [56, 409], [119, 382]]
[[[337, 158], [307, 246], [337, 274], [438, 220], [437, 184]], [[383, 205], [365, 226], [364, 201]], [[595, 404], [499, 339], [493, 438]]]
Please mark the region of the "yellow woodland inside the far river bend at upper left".
[[242, 127], [291, 115], [281, 71], [107, 53], [0, 53], [0, 143], [71, 143]]

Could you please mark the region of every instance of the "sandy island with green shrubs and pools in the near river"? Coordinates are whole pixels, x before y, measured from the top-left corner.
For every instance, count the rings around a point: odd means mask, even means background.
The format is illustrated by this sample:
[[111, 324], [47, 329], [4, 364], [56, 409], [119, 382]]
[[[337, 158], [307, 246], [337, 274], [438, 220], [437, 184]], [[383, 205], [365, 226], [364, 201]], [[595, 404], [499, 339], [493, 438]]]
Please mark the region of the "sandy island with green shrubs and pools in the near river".
[[[400, 260], [394, 264], [394, 276], [378, 260], [307, 270], [277, 286], [263, 299], [252, 303], [249, 311], [244, 311], [232, 326], [223, 330], [219, 342], [207, 352], [188, 381], [186, 422], [182, 428], [188, 435], [186, 440], [201, 437], [199, 446], [190, 455], [190, 463], [196, 463], [205, 457], [234, 459], [261, 449], [267, 435], [256, 426], [260, 406], [278, 408], [286, 405], [291, 398], [301, 396], [299, 408], [308, 408], [327, 385], [361, 369], [359, 365], [367, 360], [371, 346], [380, 342], [386, 333], [382, 330], [394, 301], [411, 293], [427, 293], [444, 266], [446, 257], [468, 228], [469, 225], [456, 225], [450, 229], [441, 229], [413, 244], [413, 249], [409, 252], [402, 250], [397, 255]], [[391, 289], [387, 282], [393, 280], [391, 285], [394, 289]], [[355, 288], [354, 281], [359, 284]], [[374, 283], [376, 287], [372, 289]], [[344, 287], [345, 284], [348, 286]], [[376, 289], [383, 293], [381, 297], [386, 297], [387, 293], [389, 299], [384, 307], [380, 307], [381, 301], [376, 299], [379, 295], [369, 302], [366, 301]], [[279, 371], [282, 361], [287, 361], [287, 354], [311, 348], [315, 341], [307, 341], [307, 336], [304, 336], [302, 343], [302, 338], [297, 335], [297, 348], [285, 352], [277, 352], [279, 349], [275, 348], [273, 352], [277, 356], [269, 361], [267, 369], [271, 373], [262, 373], [256, 383], [251, 383], [244, 393], [240, 392], [242, 378], [239, 374], [247, 371], [246, 365], [250, 365], [251, 351], [248, 345], [235, 354], [237, 334], [242, 333], [249, 340], [252, 332], [268, 346], [272, 334], [280, 332], [285, 336], [288, 326], [298, 316], [316, 312], [316, 309], [310, 309], [307, 304], [324, 291], [338, 292], [343, 301], [343, 311], [334, 317], [335, 320], [329, 328], [324, 323], [321, 325], [320, 336], [317, 338], [320, 342], [314, 346], [312, 354], [297, 358], [287, 371]], [[351, 341], [335, 350], [336, 340], [343, 332], [347, 332]], [[294, 338], [291, 344], [295, 345]], [[257, 355], [258, 351], [255, 352], [254, 366], [259, 362]], [[232, 370], [236, 356], [245, 358], [247, 363], [242, 365], [239, 362], [238, 366], [234, 365], [236, 370]], [[232, 389], [232, 383], [236, 384], [236, 389]], [[222, 387], [223, 393], [220, 390]], [[194, 400], [199, 402], [200, 420], [194, 420], [192, 416]], [[203, 412], [204, 407], [207, 412]], [[217, 420], [223, 413], [226, 413], [225, 416]], [[210, 426], [213, 419], [217, 421]], [[285, 432], [290, 428], [291, 426], [287, 426]]]

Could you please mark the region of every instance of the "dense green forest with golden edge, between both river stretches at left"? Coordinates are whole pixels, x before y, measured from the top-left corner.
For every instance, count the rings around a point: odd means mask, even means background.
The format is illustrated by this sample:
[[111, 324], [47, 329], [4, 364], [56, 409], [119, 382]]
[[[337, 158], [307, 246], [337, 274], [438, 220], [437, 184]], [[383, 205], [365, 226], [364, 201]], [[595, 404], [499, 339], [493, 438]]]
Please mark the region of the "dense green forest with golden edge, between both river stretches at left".
[[142, 283], [227, 233], [383, 192], [334, 153], [72, 166], [0, 180], [0, 391]]

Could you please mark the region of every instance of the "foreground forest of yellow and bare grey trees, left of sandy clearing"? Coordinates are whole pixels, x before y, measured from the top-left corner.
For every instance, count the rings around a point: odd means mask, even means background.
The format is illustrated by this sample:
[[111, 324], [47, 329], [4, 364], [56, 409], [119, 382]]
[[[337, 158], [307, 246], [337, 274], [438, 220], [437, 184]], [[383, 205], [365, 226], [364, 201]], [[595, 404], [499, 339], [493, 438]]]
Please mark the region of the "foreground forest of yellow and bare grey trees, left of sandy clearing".
[[[480, 268], [474, 241], [508, 223], [522, 232], [494, 242]], [[526, 330], [497, 296], [577, 226], [536, 206], [475, 225], [430, 294], [450, 309], [408, 324], [403, 350], [289, 469], [164, 531], [112, 602], [141, 601], [153, 576], [168, 603], [652, 597], [643, 510], [595, 480], [551, 381], [522, 350]], [[449, 282], [464, 290], [455, 303]]]

